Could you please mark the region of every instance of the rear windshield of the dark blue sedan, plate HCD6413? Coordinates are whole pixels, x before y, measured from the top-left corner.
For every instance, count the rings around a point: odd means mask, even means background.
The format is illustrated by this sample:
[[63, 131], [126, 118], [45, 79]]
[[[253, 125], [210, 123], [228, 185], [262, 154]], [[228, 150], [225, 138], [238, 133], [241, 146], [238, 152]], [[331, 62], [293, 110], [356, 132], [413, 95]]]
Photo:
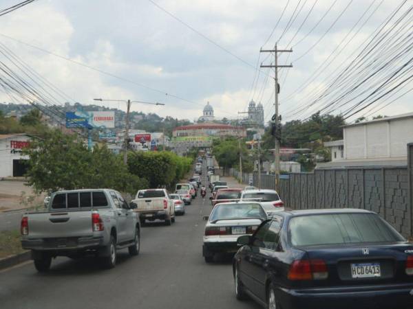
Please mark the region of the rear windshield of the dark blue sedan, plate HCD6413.
[[404, 241], [377, 214], [321, 214], [291, 218], [290, 240], [296, 247]]

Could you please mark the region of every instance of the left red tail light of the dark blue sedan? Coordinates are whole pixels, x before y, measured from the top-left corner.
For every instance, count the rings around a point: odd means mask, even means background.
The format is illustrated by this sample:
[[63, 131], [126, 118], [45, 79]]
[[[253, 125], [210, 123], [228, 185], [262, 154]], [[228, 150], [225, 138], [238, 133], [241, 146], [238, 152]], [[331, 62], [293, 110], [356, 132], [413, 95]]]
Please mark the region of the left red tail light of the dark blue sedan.
[[326, 262], [323, 260], [295, 260], [288, 271], [290, 280], [321, 280], [328, 278]]

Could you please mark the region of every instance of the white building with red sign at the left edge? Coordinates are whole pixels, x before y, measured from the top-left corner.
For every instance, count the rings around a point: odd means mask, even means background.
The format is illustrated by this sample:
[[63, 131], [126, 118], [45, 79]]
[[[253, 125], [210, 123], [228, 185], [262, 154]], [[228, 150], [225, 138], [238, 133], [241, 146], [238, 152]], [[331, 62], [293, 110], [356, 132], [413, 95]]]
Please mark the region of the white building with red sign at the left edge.
[[22, 148], [29, 146], [31, 137], [25, 134], [0, 135], [0, 177], [23, 176], [26, 171]]

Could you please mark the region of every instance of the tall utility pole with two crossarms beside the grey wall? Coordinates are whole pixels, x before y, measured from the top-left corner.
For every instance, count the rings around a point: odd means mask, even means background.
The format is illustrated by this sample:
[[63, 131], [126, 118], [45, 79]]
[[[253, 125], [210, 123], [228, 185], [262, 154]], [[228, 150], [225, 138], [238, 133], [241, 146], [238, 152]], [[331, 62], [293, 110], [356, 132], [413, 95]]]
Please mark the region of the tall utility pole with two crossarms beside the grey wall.
[[278, 65], [278, 53], [286, 52], [291, 53], [293, 49], [277, 49], [277, 43], [275, 43], [274, 49], [260, 49], [262, 53], [274, 53], [274, 65], [262, 65], [260, 67], [270, 67], [274, 68], [275, 71], [275, 115], [273, 116], [273, 126], [275, 126], [275, 190], [279, 190], [279, 139], [281, 138], [281, 132], [278, 132], [281, 128], [279, 123], [281, 121], [278, 114], [278, 94], [279, 94], [279, 83], [278, 83], [278, 68], [279, 67], [293, 67], [293, 65]]

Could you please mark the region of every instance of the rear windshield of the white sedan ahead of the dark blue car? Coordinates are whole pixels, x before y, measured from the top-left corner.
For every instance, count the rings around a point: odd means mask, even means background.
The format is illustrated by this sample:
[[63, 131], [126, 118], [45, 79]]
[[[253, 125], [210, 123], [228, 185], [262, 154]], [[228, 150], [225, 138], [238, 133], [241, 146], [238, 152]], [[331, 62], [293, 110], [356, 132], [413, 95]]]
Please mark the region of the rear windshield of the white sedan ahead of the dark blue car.
[[210, 221], [264, 218], [266, 218], [265, 211], [257, 203], [231, 203], [215, 206]]

